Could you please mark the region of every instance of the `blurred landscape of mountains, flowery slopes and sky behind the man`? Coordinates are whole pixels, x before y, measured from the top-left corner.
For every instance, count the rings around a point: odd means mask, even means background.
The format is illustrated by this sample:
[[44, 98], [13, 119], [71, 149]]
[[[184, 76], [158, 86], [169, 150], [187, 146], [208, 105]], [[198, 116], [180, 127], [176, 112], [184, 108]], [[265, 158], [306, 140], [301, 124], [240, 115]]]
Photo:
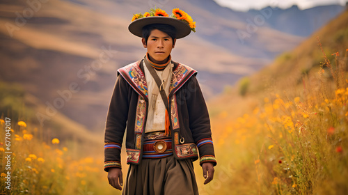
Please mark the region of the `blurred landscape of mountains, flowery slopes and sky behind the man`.
[[[337, 90], [345, 95], [347, 87], [347, 1], [3, 0], [0, 141], [1, 146], [6, 145], [8, 117], [13, 124], [11, 150], [17, 153], [11, 166], [17, 171], [12, 172], [13, 190], [6, 190], [1, 182], [2, 193], [117, 194], [102, 167], [106, 112], [118, 68], [138, 61], [146, 52], [141, 38], [132, 36], [127, 26], [133, 14], [155, 6], [169, 15], [173, 8], [180, 8], [197, 25], [196, 33], [177, 40], [172, 57], [198, 70], [212, 118], [216, 180], [201, 185], [203, 177], [196, 165], [201, 194], [347, 192], [340, 185], [347, 181], [347, 169], [342, 168], [345, 176], [338, 177], [340, 180], [316, 188], [323, 180], [313, 178], [326, 175], [314, 168], [310, 168], [313, 175], [300, 174], [300, 162], [306, 165], [305, 153], [298, 164], [283, 167], [284, 161], [293, 162], [296, 151], [302, 151], [295, 147], [299, 146], [296, 137], [290, 140], [292, 132], [301, 132], [297, 128], [321, 128], [327, 136], [333, 127], [334, 133], [342, 134], [333, 138], [340, 141], [332, 147], [336, 150], [338, 143], [346, 144], [347, 99], [335, 98], [342, 98]], [[341, 104], [326, 111], [321, 103], [327, 106], [331, 99]], [[326, 116], [335, 108], [335, 117]], [[309, 120], [321, 110], [322, 119]], [[319, 125], [325, 118], [331, 118], [330, 123]], [[281, 137], [269, 132], [277, 128], [284, 129]], [[25, 134], [33, 137], [26, 139]], [[294, 147], [291, 154], [282, 144]], [[311, 147], [315, 148], [314, 143]], [[331, 154], [326, 152], [322, 158]], [[39, 156], [45, 162], [38, 162]], [[125, 158], [124, 154], [124, 176]], [[315, 164], [319, 167], [320, 163], [315, 159]], [[5, 173], [4, 167], [1, 173]], [[291, 175], [290, 168], [294, 169]], [[287, 175], [282, 179], [278, 172]], [[342, 191], [332, 191], [336, 185]]]

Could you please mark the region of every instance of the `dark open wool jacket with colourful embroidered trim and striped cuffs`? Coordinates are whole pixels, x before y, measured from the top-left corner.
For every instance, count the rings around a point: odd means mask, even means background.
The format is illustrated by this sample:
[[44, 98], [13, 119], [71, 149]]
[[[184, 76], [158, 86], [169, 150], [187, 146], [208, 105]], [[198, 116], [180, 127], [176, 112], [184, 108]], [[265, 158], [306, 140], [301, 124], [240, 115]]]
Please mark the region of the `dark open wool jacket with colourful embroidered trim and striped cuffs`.
[[[198, 159], [200, 165], [216, 165], [207, 106], [196, 79], [196, 70], [174, 63], [169, 88], [169, 116], [173, 155], [177, 159]], [[127, 164], [139, 164], [148, 113], [148, 87], [143, 61], [118, 70], [118, 79], [106, 117], [104, 170], [119, 167], [123, 135], [126, 133]], [[120, 77], [121, 76], [121, 77]]]

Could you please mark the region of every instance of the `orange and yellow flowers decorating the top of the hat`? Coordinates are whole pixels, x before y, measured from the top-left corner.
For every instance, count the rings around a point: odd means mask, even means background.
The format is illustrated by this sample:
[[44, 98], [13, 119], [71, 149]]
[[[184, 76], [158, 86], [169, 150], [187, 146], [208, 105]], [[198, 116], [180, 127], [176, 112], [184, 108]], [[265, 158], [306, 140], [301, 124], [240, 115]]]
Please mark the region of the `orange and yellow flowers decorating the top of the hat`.
[[137, 13], [133, 15], [132, 22], [142, 17], [152, 17], [152, 16], [162, 16], [162, 17], [173, 17], [177, 20], [187, 23], [190, 26], [191, 31], [196, 33], [196, 22], [193, 22], [192, 17], [185, 13], [183, 10], [178, 8], [173, 9], [172, 15], [169, 16], [166, 11], [161, 10], [160, 8], [150, 9], [148, 12]]

